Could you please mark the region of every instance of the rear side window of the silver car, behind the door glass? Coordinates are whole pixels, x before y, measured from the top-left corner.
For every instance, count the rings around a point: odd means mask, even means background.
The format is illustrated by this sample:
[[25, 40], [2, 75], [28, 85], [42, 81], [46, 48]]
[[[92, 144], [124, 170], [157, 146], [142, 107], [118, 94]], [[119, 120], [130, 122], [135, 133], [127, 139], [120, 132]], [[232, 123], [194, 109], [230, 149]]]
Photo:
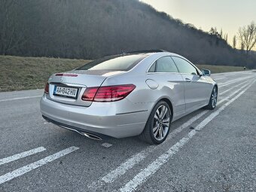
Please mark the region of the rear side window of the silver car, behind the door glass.
[[154, 62], [148, 72], [178, 72], [178, 69], [170, 56], [163, 56]]

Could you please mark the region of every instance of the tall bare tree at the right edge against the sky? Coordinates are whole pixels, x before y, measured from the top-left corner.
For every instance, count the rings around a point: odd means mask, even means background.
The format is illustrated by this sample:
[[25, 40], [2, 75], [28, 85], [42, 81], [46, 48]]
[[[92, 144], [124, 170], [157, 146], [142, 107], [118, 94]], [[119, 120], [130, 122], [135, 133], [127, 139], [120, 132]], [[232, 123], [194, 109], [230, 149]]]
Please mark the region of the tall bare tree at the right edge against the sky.
[[238, 35], [241, 41], [241, 50], [245, 50], [248, 56], [248, 53], [256, 44], [256, 24], [252, 21], [248, 26], [240, 27]]

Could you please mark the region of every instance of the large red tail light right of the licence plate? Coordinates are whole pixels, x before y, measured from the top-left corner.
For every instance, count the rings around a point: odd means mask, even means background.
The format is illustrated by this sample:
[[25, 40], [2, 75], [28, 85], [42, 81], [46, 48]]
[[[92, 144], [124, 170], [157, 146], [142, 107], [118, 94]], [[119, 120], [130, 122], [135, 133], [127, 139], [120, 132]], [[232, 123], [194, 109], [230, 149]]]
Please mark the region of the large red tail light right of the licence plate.
[[136, 86], [122, 84], [103, 87], [89, 87], [84, 91], [82, 100], [92, 102], [114, 102], [128, 96]]

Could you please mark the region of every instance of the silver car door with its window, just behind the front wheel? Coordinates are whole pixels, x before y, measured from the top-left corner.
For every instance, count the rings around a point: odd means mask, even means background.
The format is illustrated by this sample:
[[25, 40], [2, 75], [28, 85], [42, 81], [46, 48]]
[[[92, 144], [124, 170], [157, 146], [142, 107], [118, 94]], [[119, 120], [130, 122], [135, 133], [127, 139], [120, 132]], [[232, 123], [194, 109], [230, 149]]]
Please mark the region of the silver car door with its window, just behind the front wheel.
[[209, 99], [209, 84], [206, 78], [200, 75], [197, 69], [186, 59], [178, 56], [172, 56], [172, 59], [184, 80], [186, 111], [201, 108]]

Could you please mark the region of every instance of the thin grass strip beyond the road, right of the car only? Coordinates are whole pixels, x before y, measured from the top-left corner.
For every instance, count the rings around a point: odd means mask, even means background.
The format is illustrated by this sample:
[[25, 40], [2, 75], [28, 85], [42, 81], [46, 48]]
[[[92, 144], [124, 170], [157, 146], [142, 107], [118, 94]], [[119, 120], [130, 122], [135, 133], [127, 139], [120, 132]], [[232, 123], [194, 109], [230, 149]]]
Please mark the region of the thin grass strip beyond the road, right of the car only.
[[210, 66], [210, 65], [197, 65], [199, 69], [209, 69], [211, 73], [222, 73], [222, 72], [239, 72], [243, 71], [243, 67], [237, 66]]

